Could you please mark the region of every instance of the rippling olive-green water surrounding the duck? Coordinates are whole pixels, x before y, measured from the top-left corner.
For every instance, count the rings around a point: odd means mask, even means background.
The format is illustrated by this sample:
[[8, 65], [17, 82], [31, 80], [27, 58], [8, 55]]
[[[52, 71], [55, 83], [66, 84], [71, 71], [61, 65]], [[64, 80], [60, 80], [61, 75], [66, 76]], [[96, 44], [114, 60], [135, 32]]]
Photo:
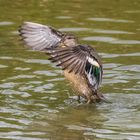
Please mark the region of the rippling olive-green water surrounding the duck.
[[[0, 139], [139, 140], [140, 1], [0, 1]], [[102, 57], [111, 104], [78, 104], [62, 71], [23, 48], [23, 21], [79, 36]]]

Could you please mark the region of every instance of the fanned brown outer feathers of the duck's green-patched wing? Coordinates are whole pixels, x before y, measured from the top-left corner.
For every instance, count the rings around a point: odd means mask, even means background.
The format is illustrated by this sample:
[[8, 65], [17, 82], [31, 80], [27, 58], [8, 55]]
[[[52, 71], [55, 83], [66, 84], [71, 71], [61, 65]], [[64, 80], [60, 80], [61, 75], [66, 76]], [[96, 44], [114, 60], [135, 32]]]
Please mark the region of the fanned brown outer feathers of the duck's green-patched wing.
[[84, 74], [88, 53], [82, 48], [83, 46], [78, 45], [50, 51], [50, 60], [52, 62], [58, 62], [57, 66], [62, 66], [63, 70], [67, 69], [68, 72]]

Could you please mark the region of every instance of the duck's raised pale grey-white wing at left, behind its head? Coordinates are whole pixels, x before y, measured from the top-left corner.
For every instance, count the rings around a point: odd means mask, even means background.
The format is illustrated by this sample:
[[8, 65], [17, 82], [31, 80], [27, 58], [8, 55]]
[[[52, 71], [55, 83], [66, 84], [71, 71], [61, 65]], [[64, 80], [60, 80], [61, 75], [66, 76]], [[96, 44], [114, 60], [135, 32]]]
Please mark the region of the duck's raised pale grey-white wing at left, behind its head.
[[64, 36], [52, 27], [32, 22], [24, 22], [19, 32], [28, 48], [39, 51], [55, 47]]

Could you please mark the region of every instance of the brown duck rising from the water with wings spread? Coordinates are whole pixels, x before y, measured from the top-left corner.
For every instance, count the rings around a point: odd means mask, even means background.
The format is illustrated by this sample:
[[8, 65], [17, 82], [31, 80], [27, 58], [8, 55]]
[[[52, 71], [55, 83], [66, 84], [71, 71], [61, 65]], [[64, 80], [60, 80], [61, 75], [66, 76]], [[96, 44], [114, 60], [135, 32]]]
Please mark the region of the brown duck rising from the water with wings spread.
[[45, 52], [51, 62], [62, 68], [78, 101], [81, 97], [87, 104], [105, 101], [99, 92], [103, 66], [95, 48], [80, 44], [78, 38], [71, 33], [34, 22], [23, 22], [19, 35], [27, 48]]

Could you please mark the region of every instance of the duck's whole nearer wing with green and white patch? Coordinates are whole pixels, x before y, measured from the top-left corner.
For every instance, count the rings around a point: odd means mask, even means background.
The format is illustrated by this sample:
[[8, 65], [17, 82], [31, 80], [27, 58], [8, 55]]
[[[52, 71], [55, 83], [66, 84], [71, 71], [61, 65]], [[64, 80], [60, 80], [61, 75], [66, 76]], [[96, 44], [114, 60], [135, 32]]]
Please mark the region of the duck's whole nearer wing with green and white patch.
[[98, 89], [102, 81], [102, 65], [98, 61], [99, 56], [90, 46], [78, 45], [71, 48], [57, 49], [50, 51], [50, 60], [58, 62], [68, 72], [85, 75], [93, 89]]

